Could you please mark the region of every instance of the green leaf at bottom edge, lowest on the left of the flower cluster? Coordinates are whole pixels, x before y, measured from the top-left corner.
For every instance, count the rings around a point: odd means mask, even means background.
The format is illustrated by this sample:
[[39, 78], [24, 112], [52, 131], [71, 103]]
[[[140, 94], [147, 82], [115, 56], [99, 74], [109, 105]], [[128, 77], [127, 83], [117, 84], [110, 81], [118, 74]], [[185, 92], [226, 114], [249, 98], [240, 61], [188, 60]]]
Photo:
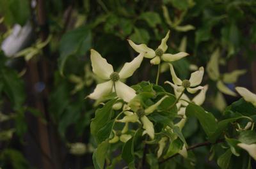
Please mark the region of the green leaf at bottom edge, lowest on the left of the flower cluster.
[[93, 152], [93, 165], [96, 169], [103, 169], [109, 148], [109, 140], [100, 143]]

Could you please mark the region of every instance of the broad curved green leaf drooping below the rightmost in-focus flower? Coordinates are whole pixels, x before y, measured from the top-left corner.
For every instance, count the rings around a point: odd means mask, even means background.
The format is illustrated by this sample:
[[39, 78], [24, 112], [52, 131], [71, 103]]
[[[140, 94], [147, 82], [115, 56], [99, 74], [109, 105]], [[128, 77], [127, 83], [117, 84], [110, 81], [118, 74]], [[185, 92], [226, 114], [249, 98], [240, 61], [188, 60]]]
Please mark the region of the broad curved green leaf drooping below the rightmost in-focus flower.
[[188, 117], [195, 116], [200, 122], [202, 128], [204, 129], [207, 136], [211, 136], [217, 129], [217, 122], [215, 121], [214, 115], [210, 112], [205, 112], [204, 108], [189, 103], [186, 108], [186, 115]]

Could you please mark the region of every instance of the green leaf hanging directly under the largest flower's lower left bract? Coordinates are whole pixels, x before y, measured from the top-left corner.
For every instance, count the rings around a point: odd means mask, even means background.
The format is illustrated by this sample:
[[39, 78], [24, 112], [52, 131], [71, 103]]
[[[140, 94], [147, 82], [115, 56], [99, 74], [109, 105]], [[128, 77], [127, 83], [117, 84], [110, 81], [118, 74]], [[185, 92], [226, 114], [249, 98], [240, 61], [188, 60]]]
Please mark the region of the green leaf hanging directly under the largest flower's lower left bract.
[[116, 99], [108, 101], [102, 108], [98, 108], [95, 112], [95, 117], [91, 122], [91, 133], [97, 136], [98, 131], [103, 128], [111, 119], [113, 114], [113, 104]]

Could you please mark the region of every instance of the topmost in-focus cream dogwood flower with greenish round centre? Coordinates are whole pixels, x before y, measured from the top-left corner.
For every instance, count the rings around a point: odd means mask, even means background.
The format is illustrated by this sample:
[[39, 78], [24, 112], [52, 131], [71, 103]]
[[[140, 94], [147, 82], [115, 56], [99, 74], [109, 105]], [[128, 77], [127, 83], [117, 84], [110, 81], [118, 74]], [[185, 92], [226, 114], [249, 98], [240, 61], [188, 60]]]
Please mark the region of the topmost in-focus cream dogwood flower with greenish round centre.
[[147, 47], [145, 44], [136, 45], [133, 41], [128, 40], [131, 47], [138, 53], [145, 53], [144, 57], [147, 57], [150, 60], [151, 64], [160, 64], [161, 60], [166, 62], [173, 62], [177, 61], [179, 59], [182, 59], [183, 57], [186, 57], [186, 52], [179, 52], [177, 54], [165, 54], [168, 46], [166, 45], [166, 41], [169, 38], [170, 31], [166, 34], [166, 36], [162, 39], [161, 44], [156, 50], [153, 50], [152, 48]]

